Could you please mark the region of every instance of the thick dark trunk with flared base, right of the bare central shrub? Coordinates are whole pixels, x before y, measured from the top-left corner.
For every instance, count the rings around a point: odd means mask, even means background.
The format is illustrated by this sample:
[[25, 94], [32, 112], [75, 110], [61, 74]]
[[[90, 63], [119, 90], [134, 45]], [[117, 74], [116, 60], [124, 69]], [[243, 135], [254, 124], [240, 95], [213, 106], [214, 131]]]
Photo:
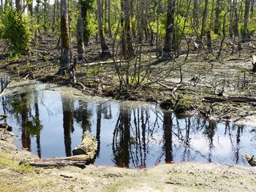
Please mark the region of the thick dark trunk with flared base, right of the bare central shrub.
[[169, 0], [167, 5], [167, 23], [165, 28], [165, 45], [162, 49], [162, 59], [169, 60], [172, 58], [172, 42], [174, 31], [174, 15], [175, 15], [176, 0]]

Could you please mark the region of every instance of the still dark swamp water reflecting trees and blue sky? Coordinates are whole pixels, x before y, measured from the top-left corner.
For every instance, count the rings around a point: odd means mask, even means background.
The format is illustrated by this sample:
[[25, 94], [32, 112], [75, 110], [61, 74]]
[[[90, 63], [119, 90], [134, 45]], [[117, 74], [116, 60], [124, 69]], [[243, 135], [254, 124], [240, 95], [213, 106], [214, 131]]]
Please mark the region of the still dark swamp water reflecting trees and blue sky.
[[[1, 91], [10, 83], [1, 77]], [[18, 147], [39, 158], [72, 155], [83, 132], [98, 140], [94, 164], [144, 168], [171, 161], [247, 165], [256, 128], [203, 118], [178, 118], [153, 104], [84, 96], [74, 89], [13, 81], [1, 96]], [[4, 120], [1, 121], [4, 123]]]

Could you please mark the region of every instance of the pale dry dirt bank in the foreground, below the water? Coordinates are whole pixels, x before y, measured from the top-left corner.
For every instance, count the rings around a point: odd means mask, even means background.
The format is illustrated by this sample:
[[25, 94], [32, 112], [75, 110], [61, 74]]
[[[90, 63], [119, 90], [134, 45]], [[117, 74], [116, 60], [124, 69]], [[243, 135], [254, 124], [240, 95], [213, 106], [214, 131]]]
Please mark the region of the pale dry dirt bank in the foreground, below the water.
[[34, 168], [20, 161], [37, 158], [0, 129], [0, 191], [255, 191], [256, 167], [161, 164], [151, 169], [108, 166]]

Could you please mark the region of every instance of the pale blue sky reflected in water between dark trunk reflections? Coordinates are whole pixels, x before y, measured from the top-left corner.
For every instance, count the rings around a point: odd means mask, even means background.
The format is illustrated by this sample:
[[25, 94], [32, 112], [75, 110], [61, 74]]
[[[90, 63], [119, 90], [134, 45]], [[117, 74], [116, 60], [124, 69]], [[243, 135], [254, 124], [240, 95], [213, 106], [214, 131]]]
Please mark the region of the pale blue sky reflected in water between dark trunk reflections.
[[[29, 84], [28, 84], [29, 85]], [[19, 85], [20, 86], [20, 85]], [[28, 92], [31, 91], [34, 85], [26, 87], [19, 87], [18, 84], [13, 83], [10, 88], [7, 89], [6, 93], [10, 95], [18, 94], [20, 91]], [[42, 130], [40, 132], [40, 144], [42, 151], [42, 158], [52, 158], [65, 156], [64, 147], [64, 128], [63, 128], [63, 114], [62, 114], [62, 101], [61, 95], [67, 96], [74, 99], [75, 110], [79, 106], [87, 106], [87, 110], [91, 112], [91, 117], [89, 121], [91, 122], [91, 134], [96, 136], [97, 134], [97, 105], [102, 104], [102, 106], [110, 106], [112, 118], [105, 119], [104, 114], [102, 114], [101, 119], [101, 129], [100, 129], [100, 152], [99, 157], [96, 159], [94, 164], [113, 166], [113, 130], [116, 126], [116, 121], [118, 119], [119, 107], [124, 106], [130, 109], [135, 109], [135, 114], [140, 114], [143, 111], [148, 112], [148, 123], [146, 124], [146, 152], [143, 152], [143, 147], [141, 145], [136, 145], [132, 143], [130, 150], [132, 155], [130, 155], [130, 166], [134, 167], [134, 164], [142, 163], [145, 158], [146, 166], [154, 166], [156, 163], [165, 162], [165, 148], [163, 138], [163, 114], [159, 109], [156, 109], [154, 105], [145, 104], [142, 102], [121, 102], [113, 101], [111, 99], [100, 99], [98, 97], [91, 96], [80, 96], [80, 91], [73, 91], [71, 88], [58, 88], [52, 87], [45, 91], [44, 85], [37, 84], [38, 101], [39, 101], [39, 119], [42, 123]], [[18, 91], [18, 93], [15, 93]], [[32, 99], [34, 96], [31, 97]], [[80, 100], [80, 104], [78, 104]], [[86, 104], [87, 103], [87, 104]], [[138, 112], [138, 107], [140, 110]], [[108, 107], [107, 107], [108, 108]], [[31, 102], [31, 115], [34, 115], [34, 104]], [[142, 109], [142, 110], [141, 110]], [[3, 113], [2, 105], [0, 107], [1, 113]], [[132, 111], [132, 110], [131, 110]], [[157, 119], [157, 123], [155, 122]], [[137, 117], [137, 116], [136, 116]], [[173, 117], [173, 116], [172, 116]], [[131, 113], [131, 137], [135, 137], [135, 123], [134, 113]], [[137, 117], [138, 118], [138, 117]], [[144, 116], [145, 120], [145, 116]], [[236, 135], [238, 128], [230, 123], [230, 132], [226, 130], [225, 134], [225, 124], [218, 123], [217, 129], [214, 131], [213, 145], [210, 147], [209, 139], [206, 134], [203, 134], [205, 127], [202, 126], [203, 119], [200, 120], [200, 125], [197, 125], [198, 118], [190, 118], [191, 128], [189, 130], [189, 145], [185, 145], [186, 137], [186, 125], [188, 124], [188, 118], [185, 120], [177, 120], [173, 117], [173, 160], [178, 161], [201, 161], [208, 162], [211, 159], [214, 163], [220, 164], [236, 164], [236, 151], [238, 150], [238, 164], [247, 165], [246, 161], [241, 155], [244, 153], [254, 153], [255, 152], [255, 137], [254, 133], [250, 133], [251, 127], [243, 128], [243, 133], [241, 133], [240, 143], [237, 145]], [[178, 125], [177, 125], [178, 121]], [[16, 145], [22, 147], [20, 142], [21, 128], [20, 124], [17, 122], [14, 115], [10, 115], [7, 118], [7, 123], [14, 127], [15, 134], [18, 135], [18, 142]], [[72, 139], [72, 149], [75, 145], [80, 144], [82, 137], [82, 128], [80, 123], [76, 123], [74, 119], [74, 132], [71, 134]], [[142, 135], [141, 119], [140, 119], [140, 136]], [[152, 134], [152, 135], [151, 135]], [[252, 141], [251, 141], [252, 139]], [[142, 142], [140, 139], [139, 142]], [[137, 148], [136, 148], [137, 147]], [[36, 137], [31, 138], [31, 150], [32, 153], [37, 154], [37, 142]], [[142, 153], [136, 153], [141, 151]]]

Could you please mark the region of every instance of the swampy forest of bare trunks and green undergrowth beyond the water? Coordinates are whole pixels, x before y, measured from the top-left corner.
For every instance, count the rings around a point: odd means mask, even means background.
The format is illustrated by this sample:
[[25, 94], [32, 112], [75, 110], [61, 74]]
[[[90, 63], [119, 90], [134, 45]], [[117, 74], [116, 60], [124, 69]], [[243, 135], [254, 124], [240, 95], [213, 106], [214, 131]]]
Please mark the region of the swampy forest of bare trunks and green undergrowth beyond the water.
[[254, 9], [249, 0], [1, 1], [1, 69], [172, 110], [223, 93], [247, 102]]

